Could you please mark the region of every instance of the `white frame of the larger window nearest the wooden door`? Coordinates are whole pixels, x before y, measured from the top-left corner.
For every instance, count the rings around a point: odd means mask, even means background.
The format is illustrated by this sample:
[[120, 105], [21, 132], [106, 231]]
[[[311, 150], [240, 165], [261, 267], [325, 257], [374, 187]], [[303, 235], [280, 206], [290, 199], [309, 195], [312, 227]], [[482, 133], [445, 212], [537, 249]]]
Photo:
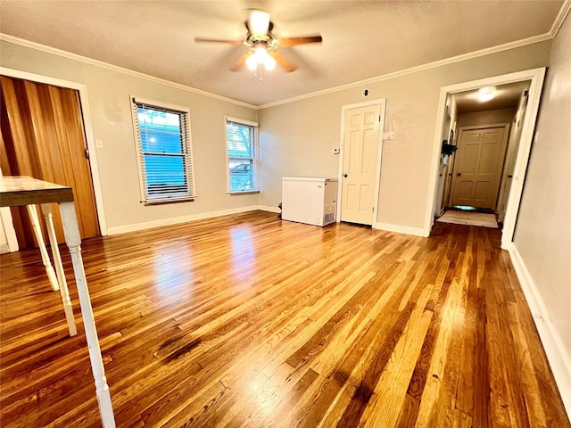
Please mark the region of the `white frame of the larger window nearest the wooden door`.
[[[194, 182], [194, 156], [193, 144], [190, 131], [190, 110], [181, 105], [164, 103], [161, 101], [150, 100], [140, 96], [130, 95], [131, 110], [133, 112], [133, 130], [135, 134], [135, 145], [137, 147], [137, 167], [139, 172], [139, 185], [141, 191], [141, 202], [145, 205], [155, 205], [160, 203], [171, 202], [191, 202], [196, 198], [195, 182]], [[141, 129], [138, 121], [138, 107], [145, 105], [150, 109], [171, 111], [177, 113], [184, 119], [181, 124], [181, 136], [183, 137], [183, 154], [186, 177], [186, 191], [184, 192], [164, 192], [149, 193], [146, 185], [146, 168], [145, 168], [145, 152], [141, 141]], [[148, 153], [147, 153], [148, 154]]]

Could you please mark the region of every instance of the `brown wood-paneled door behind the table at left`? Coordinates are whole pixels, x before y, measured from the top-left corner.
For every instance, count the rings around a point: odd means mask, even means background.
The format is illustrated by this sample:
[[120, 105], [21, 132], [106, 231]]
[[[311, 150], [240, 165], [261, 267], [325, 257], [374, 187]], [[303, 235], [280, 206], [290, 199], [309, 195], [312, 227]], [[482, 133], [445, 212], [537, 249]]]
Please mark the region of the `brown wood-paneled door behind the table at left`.
[[[73, 188], [81, 238], [100, 235], [79, 92], [0, 76], [0, 167]], [[36, 246], [28, 213], [12, 208], [21, 248]], [[54, 223], [64, 241], [57, 204]], [[41, 217], [41, 215], [40, 215]]]

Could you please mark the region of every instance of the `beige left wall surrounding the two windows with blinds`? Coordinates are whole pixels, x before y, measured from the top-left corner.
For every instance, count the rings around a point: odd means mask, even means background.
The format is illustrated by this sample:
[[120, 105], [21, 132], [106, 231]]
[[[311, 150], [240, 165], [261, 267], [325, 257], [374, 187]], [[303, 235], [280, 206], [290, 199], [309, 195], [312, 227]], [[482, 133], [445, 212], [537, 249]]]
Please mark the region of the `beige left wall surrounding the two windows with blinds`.
[[[198, 95], [146, 78], [63, 58], [52, 53], [1, 42], [0, 65], [87, 86], [97, 149], [107, 226], [112, 231], [140, 224], [164, 223], [219, 210], [258, 204], [257, 194], [227, 195], [224, 115], [257, 119], [257, 111]], [[194, 202], [145, 207], [140, 201], [136, 146], [129, 95], [187, 106], [194, 152]]]

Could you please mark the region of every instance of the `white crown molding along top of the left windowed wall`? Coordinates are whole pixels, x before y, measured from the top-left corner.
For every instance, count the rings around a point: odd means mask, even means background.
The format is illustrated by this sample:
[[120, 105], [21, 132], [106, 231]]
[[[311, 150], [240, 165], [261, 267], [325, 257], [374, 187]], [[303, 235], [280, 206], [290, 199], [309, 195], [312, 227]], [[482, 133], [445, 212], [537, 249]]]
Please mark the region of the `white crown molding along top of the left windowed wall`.
[[164, 78], [156, 78], [154, 76], [151, 76], [151, 75], [145, 74], [145, 73], [141, 73], [139, 71], [128, 70], [128, 69], [125, 69], [123, 67], [119, 67], [118, 65], [113, 65], [113, 64], [110, 64], [108, 62], [94, 60], [93, 58], [88, 58], [87, 56], [82, 56], [82, 55], [79, 55], [77, 53], [70, 53], [67, 51], [62, 51], [61, 49], [57, 49], [57, 48], [52, 47], [52, 46], [41, 45], [39, 43], [31, 42], [29, 40], [26, 40], [26, 39], [23, 39], [20, 37], [13, 37], [13, 36], [10, 36], [8, 34], [0, 33], [0, 40], [3, 40], [3, 41], [8, 42], [8, 43], [12, 43], [14, 45], [21, 45], [24, 47], [29, 47], [30, 49], [35, 49], [35, 50], [40, 51], [40, 52], [51, 53], [51, 54], [54, 54], [57, 56], [61, 56], [62, 58], [67, 58], [69, 60], [73, 60], [73, 61], [77, 61], [77, 62], [83, 62], [83, 63], [89, 64], [89, 65], [94, 65], [95, 67], [101, 67], [101, 68], [106, 69], [106, 70], [112, 70], [112, 71], [116, 71], [116, 72], [119, 72], [122, 74], [127, 74], [128, 76], [133, 76], [135, 78], [144, 78], [145, 80], [151, 81], [153, 83], [159, 83], [161, 85], [175, 87], [177, 89], [181, 89], [181, 90], [186, 91], [186, 92], [192, 92], [193, 94], [196, 94], [196, 95], [208, 96], [210, 98], [214, 98], [215, 100], [240, 105], [242, 107], [247, 107], [247, 108], [252, 109], [252, 110], [258, 110], [258, 107], [253, 105], [253, 104], [244, 103], [242, 101], [237, 101], [237, 100], [234, 100], [232, 98], [227, 98], [226, 96], [222, 96], [222, 95], [212, 94], [211, 92], [206, 92], [206, 91], [203, 91], [201, 89], [196, 89], [195, 87], [192, 87], [192, 86], [182, 85], [180, 83], [172, 82], [172, 81], [164, 79]]

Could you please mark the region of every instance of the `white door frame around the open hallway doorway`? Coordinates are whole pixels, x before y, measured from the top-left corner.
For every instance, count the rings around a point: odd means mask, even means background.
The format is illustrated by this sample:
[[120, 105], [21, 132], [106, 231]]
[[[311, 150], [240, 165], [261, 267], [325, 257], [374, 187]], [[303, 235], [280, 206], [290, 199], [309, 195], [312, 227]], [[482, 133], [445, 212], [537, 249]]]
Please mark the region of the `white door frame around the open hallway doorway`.
[[494, 76], [492, 78], [482, 78], [471, 82], [459, 83], [451, 86], [443, 86], [440, 89], [440, 103], [438, 104], [438, 116], [436, 118], [436, 132], [434, 134], [434, 147], [432, 155], [432, 164], [430, 169], [430, 177], [428, 183], [428, 199], [426, 200], [425, 224], [424, 231], [426, 236], [430, 234], [433, 225], [434, 212], [434, 194], [436, 192], [438, 165], [440, 162], [440, 151], [442, 145], [444, 111], [446, 110], [446, 98], [449, 94], [464, 92], [477, 89], [482, 86], [503, 85], [506, 83], [520, 82], [531, 80], [529, 88], [529, 99], [527, 103], [527, 111], [523, 123], [521, 140], [516, 153], [516, 165], [514, 168], [514, 177], [511, 188], [509, 189], [508, 205], [506, 207], [506, 216], [504, 218], [503, 229], [501, 232], [501, 248], [509, 248], [513, 241], [516, 229], [517, 212], [519, 210], [519, 202], [524, 190], [525, 172], [527, 171], [527, 163], [529, 161], [529, 153], [531, 152], [532, 141], [534, 139], [535, 122], [539, 111], [539, 103], [542, 96], [543, 80], [545, 79], [545, 67], [517, 71], [515, 73]]

